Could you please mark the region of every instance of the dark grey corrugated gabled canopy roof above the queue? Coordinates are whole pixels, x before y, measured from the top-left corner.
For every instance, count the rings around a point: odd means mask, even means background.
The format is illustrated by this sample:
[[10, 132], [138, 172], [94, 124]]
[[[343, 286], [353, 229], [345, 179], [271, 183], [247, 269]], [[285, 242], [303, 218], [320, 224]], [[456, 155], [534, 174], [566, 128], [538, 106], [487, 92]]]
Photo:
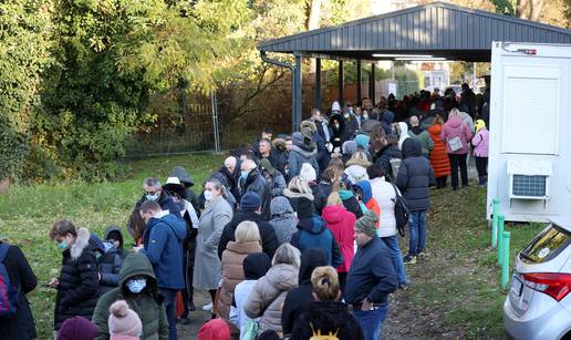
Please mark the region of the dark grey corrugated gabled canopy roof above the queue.
[[394, 56], [374, 54], [414, 54], [487, 62], [492, 41], [571, 44], [571, 31], [433, 2], [269, 40], [258, 49], [329, 59], [393, 60]]

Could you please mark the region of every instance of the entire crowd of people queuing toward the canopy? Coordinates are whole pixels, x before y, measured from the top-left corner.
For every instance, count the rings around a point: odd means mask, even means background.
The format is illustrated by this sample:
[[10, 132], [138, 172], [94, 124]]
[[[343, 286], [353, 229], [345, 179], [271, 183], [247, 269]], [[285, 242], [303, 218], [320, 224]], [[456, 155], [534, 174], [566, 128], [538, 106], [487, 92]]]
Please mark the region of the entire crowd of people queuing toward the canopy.
[[[487, 184], [489, 96], [463, 89], [312, 110], [291, 136], [264, 128], [232, 152], [199, 193], [181, 166], [148, 177], [133, 246], [118, 227], [56, 221], [54, 339], [177, 339], [195, 289], [211, 300], [198, 339], [381, 339], [390, 295], [412, 284], [405, 265], [427, 256], [429, 187], [451, 176], [459, 189], [458, 169], [468, 186], [471, 150]], [[0, 289], [0, 332], [33, 339], [35, 276], [15, 246], [0, 244], [0, 286], [14, 288]]]

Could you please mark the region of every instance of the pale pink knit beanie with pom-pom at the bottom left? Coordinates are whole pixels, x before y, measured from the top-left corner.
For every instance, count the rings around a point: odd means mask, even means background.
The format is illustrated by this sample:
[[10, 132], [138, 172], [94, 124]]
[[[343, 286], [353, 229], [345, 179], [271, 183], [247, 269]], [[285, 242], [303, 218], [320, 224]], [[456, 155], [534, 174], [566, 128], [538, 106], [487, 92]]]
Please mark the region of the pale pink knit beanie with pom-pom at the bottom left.
[[117, 300], [110, 307], [108, 319], [111, 340], [114, 336], [141, 337], [143, 324], [138, 315], [128, 308], [125, 300]]

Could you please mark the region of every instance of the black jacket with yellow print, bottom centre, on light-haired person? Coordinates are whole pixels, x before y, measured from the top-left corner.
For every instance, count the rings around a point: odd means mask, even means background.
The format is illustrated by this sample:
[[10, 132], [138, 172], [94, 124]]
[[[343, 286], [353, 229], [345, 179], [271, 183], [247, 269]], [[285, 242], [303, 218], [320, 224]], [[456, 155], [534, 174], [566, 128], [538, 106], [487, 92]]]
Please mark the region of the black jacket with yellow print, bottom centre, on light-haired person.
[[313, 301], [298, 322], [291, 340], [305, 340], [321, 334], [336, 334], [338, 339], [364, 340], [359, 321], [349, 311], [347, 305], [338, 301]]

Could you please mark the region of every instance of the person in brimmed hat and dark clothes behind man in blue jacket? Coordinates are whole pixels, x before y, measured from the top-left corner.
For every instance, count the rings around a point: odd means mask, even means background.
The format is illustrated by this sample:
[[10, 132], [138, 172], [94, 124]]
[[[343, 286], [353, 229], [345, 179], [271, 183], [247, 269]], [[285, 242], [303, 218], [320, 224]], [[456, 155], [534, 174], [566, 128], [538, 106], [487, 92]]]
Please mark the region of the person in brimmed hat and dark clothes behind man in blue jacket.
[[186, 238], [183, 243], [183, 272], [186, 289], [183, 290], [184, 312], [180, 316], [183, 324], [188, 324], [188, 312], [195, 310], [193, 301], [193, 270], [195, 268], [196, 236], [198, 234], [198, 215], [194, 206], [185, 198], [185, 187], [178, 177], [168, 177], [165, 190], [173, 197], [173, 200], [180, 207], [180, 214], [186, 224]]

